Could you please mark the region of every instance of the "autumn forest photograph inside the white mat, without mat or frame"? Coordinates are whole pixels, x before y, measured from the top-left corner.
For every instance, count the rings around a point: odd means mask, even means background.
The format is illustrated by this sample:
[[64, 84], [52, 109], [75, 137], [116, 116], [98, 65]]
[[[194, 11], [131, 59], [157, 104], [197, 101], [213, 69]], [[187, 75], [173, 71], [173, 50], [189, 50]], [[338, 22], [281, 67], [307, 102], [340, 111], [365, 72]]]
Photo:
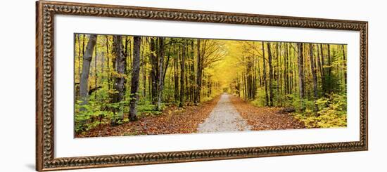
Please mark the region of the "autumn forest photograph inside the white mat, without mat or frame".
[[75, 138], [347, 126], [347, 45], [74, 34]]

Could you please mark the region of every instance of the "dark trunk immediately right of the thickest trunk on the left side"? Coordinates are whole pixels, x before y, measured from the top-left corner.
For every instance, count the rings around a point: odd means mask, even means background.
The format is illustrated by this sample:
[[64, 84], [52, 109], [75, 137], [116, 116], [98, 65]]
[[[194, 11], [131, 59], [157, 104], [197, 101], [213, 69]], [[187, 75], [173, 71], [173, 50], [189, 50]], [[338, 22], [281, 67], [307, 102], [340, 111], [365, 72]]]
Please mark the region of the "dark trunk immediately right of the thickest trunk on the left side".
[[140, 51], [141, 51], [141, 37], [133, 37], [133, 62], [132, 62], [132, 84], [130, 88], [130, 107], [129, 119], [130, 121], [137, 120], [137, 102], [139, 100], [139, 76], [140, 76]]

